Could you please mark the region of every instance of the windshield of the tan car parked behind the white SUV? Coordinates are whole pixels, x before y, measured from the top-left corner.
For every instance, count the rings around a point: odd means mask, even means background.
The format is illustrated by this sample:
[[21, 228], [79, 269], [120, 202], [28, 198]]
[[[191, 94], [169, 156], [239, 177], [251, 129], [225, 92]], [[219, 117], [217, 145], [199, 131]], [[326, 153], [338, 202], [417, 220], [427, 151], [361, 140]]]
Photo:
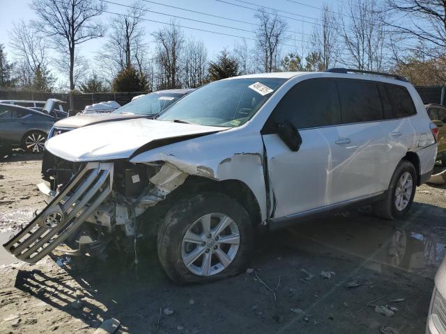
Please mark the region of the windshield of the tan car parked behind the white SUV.
[[160, 111], [170, 106], [183, 94], [175, 93], [151, 93], [139, 99], [134, 100], [121, 108], [116, 109], [113, 113], [135, 113], [139, 115], [156, 115]]

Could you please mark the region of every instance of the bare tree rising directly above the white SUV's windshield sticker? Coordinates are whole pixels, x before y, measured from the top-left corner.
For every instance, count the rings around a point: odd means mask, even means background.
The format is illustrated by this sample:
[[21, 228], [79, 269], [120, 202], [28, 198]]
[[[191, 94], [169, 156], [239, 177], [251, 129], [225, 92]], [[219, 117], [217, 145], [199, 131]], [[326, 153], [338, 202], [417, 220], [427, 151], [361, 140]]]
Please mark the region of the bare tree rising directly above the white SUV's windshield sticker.
[[263, 59], [263, 70], [272, 72], [279, 67], [278, 51], [285, 38], [286, 22], [277, 13], [268, 13], [265, 8], [259, 9], [254, 17], [259, 21], [259, 28], [254, 32]]

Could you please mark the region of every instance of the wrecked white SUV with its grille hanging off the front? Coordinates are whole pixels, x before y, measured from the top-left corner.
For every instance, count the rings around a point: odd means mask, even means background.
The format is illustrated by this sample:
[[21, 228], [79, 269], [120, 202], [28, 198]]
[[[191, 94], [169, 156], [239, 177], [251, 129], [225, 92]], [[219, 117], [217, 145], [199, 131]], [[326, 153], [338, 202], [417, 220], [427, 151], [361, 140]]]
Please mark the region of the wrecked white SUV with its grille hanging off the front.
[[54, 188], [39, 185], [49, 205], [6, 249], [36, 262], [62, 242], [94, 253], [114, 238], [136, 251], [156, 234], [167, 275], [202, 282], [242, 270], [259, 225], [357, 203], [402, 218], [431, 175], [438, 129], [405, 79], [350, 72], [224, 79], [157, 120], [51, 138]]

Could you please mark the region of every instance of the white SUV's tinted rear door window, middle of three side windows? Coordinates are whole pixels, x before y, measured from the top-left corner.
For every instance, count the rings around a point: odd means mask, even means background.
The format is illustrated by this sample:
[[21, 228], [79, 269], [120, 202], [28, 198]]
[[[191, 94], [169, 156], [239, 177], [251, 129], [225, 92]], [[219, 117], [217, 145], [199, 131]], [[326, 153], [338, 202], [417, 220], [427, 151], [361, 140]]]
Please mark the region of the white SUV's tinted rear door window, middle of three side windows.
[[385, 119], [376, 82], [339, 79], [338, 89], [343, 123]]

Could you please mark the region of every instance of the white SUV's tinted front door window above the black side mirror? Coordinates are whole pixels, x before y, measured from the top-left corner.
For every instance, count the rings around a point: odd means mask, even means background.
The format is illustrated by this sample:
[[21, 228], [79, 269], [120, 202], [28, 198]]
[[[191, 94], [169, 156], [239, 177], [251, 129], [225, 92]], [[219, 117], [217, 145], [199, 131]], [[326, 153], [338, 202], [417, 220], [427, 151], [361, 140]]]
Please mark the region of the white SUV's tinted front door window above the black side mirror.
[[334, 79], [308, 79], [291, 88], [272, 112], [272, 121], [289, 120], [297, 129], [341, 124]]

